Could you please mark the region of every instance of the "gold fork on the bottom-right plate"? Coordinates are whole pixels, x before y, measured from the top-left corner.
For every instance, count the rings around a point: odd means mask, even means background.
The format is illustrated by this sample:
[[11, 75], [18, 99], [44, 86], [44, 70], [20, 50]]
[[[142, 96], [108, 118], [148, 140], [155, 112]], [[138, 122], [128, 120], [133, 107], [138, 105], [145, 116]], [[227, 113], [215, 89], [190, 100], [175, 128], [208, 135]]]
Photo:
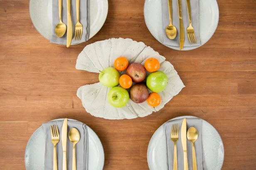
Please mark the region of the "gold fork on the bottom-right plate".
[[177, 146], [176, 146], [176, 142], [179, 140], [179, 125], [178, 124], [172, 125], [171, 139], [174, 143], [173, 170], [177, 170], [178, 166], [177, 166]]

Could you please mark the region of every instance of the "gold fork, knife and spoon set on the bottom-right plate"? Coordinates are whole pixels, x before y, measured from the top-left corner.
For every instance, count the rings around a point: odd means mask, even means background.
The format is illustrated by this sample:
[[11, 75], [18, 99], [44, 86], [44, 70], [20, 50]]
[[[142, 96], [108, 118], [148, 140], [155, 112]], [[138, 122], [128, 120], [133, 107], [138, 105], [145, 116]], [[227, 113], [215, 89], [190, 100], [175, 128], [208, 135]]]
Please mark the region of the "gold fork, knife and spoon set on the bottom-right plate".
[[[182, 121], [180, 134], [181, 134], [181, 143], [182, 143], [183, 156], [184, 156], [184, 170], [188, 170], [187, 139], [192, 143], [193, 170], [197, 170], [197, 161], [196, 161], [196, 154], [195, 154], [195, 148], [194, 148], [194, 142], [198, 138], [197, 129], [194, 127], [190, 127], [187, 131], [187, 119], [185, 118]], [[172, 125], [171, 140], [174, 143], [173, 170], [177, 170], [176, 142], [179, 140], [179, 125], [177, 125], [177, 124]]]

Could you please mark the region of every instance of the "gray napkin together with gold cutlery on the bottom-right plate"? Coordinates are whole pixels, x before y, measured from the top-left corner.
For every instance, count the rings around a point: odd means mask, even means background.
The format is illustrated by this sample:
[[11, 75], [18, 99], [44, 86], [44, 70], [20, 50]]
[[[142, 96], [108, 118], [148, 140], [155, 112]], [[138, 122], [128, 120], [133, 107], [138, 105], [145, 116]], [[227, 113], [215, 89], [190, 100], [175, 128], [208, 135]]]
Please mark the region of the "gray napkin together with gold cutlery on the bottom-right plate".
[[[190, 128], [187, 130], [187, 127]], [[178, 168], [188, 170], [192, 167], [193, 170], [203, 169], [201, 129], [202, 120], [197, 118], [184, 118], [165, 123], [169, 170], [172, 167], [173, 170]], [[196, 142], [191, 144], [191, 138]]]

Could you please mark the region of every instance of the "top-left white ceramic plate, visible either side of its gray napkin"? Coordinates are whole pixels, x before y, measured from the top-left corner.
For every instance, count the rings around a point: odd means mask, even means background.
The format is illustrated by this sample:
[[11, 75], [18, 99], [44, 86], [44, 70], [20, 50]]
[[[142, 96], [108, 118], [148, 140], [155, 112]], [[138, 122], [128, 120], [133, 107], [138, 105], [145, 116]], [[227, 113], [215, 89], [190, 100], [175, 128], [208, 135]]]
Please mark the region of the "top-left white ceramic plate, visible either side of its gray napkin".
[[[30, 0], [30, 18], [37, 31], [47, 38], [52, 36], [52, 0]], [[90, 0], [90, 35], [95, 36], [108, 15], [108, 0]]]

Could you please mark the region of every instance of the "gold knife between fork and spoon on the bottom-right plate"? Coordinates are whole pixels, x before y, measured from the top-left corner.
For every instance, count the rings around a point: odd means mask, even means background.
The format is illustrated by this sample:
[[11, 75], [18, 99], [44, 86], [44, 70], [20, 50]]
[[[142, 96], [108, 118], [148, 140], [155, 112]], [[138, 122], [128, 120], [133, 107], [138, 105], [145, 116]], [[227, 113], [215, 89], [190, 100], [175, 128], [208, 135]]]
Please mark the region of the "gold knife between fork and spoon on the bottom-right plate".
[[181, 125], [181, 143], [183, 148], [183, 156], [184, 156], [184, 170], [188, 170], [187, 165], [187, 119], [183, 119]]

